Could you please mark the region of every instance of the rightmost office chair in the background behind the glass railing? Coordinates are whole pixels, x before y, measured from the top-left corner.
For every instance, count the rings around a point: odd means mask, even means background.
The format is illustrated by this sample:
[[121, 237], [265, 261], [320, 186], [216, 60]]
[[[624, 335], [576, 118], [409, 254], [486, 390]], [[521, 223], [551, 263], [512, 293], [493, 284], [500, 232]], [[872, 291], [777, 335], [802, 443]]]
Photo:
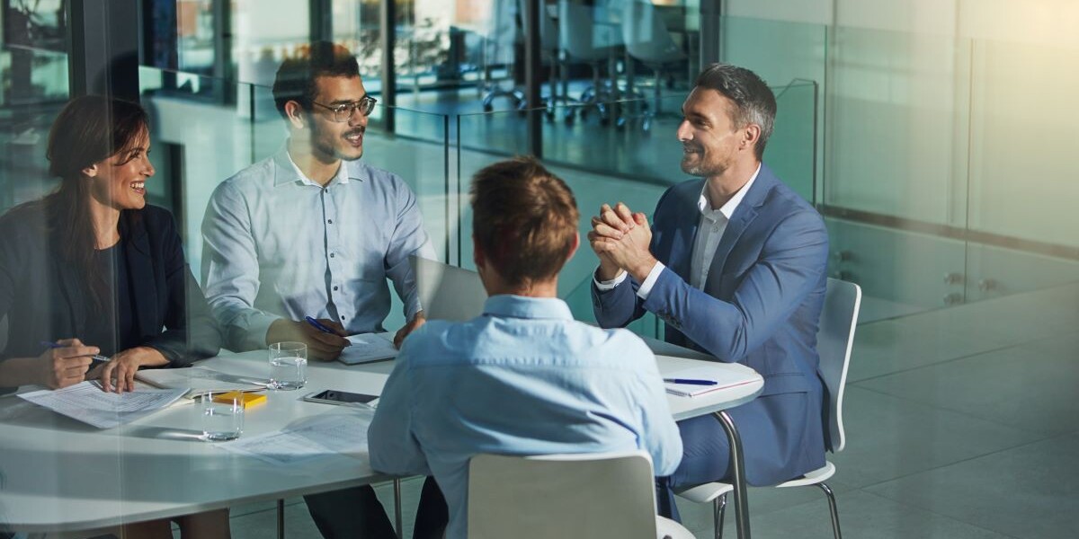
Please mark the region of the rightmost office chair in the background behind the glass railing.
[[[660, 112], [659, 85], [664, 68], [672, 63], [684, 61], [687, 56], [671, 38], [667, 26], [656, 9], [647, 0], [627, 0], [623, 5], [622, 16], [623, 39], [626, 41], [626, 52], [641, 60], [655, 73], [653, 85], [654, 106], [643, 115], [641, 129], [648, 130], [652, 119]], [[625, 125], [625, 118], [618, 119], [619, 126]]]

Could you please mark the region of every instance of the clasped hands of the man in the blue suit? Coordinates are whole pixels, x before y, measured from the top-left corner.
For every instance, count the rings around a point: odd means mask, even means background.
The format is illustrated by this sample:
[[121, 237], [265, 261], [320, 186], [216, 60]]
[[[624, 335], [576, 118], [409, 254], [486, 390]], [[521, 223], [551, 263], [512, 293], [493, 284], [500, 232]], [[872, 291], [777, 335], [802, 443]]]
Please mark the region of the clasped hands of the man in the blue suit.
[[648, 251], [652, 227], [641, 212], [630, 211], [623, 203], [612, 208], [600, 206], [600, 215], [592, 217], [588, 244], [600, 258], [599, 280], [611, 280], [628, 272], [638, 282], [643, 282], [656, 265]]

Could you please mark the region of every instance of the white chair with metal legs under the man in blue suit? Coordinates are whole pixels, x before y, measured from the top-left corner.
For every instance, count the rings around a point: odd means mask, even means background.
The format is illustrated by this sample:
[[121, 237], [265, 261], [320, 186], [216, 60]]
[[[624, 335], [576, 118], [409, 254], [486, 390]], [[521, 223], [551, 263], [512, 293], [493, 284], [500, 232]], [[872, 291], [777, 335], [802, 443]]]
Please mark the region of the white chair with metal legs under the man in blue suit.
[[[843, 429], [843, 391], [847, 384], [847, 368], [850, 364], [850, 350], [855, 345], [855, 329], [861, 303], [862, 289], [858, 285], [828, 279], [824, 308], [820, 315], [820, 328], [817, 330], [817, 354], [820, 355], [820, 365], [817, 371], [824, 381], [828, 397], [829, 420], [824, 425], [824, 443], [832, 453], [843, 451], [847, 443]], [[780, 483], [776, 487], [817, 485], [828, 496], [828, 507], [832, 513], [832, 533], [835, 539], [841, 539], [843, 535], [839, 533], [839, 512], [835, 507], [835, 495], [824, 484], [824, 481], [834, 473], [835, 465], [825, 461], [822, 468]], [[713, 503], [715, 537], [719, 539], [723, 537], [723, 510], [727, 493], [730, 490], [732, 486], [727, 483], [705, 483], [686, 488], [678, 495], [698, 503]]]

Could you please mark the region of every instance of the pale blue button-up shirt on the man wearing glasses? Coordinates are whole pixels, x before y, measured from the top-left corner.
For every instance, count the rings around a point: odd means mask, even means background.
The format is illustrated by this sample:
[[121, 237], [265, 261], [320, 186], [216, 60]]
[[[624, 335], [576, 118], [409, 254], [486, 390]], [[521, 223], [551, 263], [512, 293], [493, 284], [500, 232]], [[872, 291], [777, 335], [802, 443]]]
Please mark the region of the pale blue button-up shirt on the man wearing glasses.
[[287, 144], [217, 186], [202, 232], [203, 288], [233, 349], [264, 347], [282, 317], [385, 331], [387, 277], [411, 320], [421, 307], [408, 258], [434, 258], [404, 180], [345, 161], [323, 188]]

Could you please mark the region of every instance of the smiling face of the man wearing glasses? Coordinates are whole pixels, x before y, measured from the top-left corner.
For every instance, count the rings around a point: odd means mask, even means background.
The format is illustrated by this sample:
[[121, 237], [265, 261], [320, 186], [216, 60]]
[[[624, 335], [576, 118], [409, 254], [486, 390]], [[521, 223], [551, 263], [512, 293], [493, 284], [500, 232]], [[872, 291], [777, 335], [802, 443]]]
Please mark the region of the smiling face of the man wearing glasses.
[[364, 132], [367, 116], [356, 110], [345, 122], [337, 122], [333, 112], [326, 107], [337, 107], [355, 102], [367, 95], [359, 77], [318, 77], [315, 79], [317, 93], [312, 110], [311, 149], [315, 157], [324, 163], [337, 160], [355, 161], [364, 155]]

